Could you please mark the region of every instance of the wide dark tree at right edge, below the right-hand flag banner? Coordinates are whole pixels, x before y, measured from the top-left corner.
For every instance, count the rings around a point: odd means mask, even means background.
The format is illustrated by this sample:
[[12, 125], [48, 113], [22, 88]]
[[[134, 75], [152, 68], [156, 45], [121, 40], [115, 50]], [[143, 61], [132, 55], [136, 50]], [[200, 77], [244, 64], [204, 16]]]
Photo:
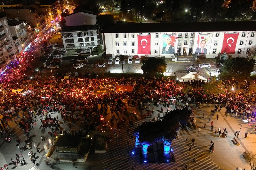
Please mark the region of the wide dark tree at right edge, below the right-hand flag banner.
[[226, 60], [224, 63], [224, 66], [221, 68], [221, 70], [225, 74], [230, 75], [240, 75], [243, 77], [250, 76], [250, 73], [252, 72], [254, 68], [255, 60], [253, 59], [245, 59], [245, 58], [231, 58], [229, 60]]

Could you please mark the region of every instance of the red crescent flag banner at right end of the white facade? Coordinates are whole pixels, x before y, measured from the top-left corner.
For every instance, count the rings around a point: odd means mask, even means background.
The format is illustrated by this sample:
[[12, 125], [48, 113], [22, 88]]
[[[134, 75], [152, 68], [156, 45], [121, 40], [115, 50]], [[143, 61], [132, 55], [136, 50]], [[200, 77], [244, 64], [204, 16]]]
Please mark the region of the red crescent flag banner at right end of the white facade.
[[239, 33], [224, 33], [223, 45], [220, 53], [235, 54], [236, 41]]

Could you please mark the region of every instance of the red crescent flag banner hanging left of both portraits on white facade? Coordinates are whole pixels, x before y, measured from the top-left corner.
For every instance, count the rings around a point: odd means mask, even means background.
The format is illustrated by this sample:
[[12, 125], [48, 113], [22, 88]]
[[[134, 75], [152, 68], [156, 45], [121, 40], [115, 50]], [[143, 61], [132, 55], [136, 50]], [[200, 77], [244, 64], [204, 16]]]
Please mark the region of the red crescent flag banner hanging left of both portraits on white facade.
[[151, 35], [137, 35], [138, 36], [138, 54], [151, 54], [150, 41]]

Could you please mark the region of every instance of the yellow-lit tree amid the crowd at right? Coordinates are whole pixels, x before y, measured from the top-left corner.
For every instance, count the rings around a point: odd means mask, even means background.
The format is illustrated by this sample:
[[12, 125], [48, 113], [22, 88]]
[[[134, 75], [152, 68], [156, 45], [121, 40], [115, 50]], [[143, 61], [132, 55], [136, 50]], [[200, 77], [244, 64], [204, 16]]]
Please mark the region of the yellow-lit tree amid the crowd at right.
[[204, 85], [202, 85], [202, 89], [205, 94], [221, 94], [224, 93], [224, 87], [222, 86], [222, 81], [217, 80], [214, 76], [211, 81], [206, 82]]

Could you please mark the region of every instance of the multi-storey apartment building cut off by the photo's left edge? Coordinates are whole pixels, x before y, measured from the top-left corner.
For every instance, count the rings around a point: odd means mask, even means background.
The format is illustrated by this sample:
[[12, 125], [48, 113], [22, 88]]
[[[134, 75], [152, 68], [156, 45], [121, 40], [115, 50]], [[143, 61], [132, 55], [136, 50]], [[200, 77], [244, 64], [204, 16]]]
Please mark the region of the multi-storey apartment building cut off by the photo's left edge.
[[6, 66], [11, 61], [17, 60], [17, 52], [13, 46], [14, 43], [7, 17], [4, 12], [0, 12], [0, 73], [6, 69]]

